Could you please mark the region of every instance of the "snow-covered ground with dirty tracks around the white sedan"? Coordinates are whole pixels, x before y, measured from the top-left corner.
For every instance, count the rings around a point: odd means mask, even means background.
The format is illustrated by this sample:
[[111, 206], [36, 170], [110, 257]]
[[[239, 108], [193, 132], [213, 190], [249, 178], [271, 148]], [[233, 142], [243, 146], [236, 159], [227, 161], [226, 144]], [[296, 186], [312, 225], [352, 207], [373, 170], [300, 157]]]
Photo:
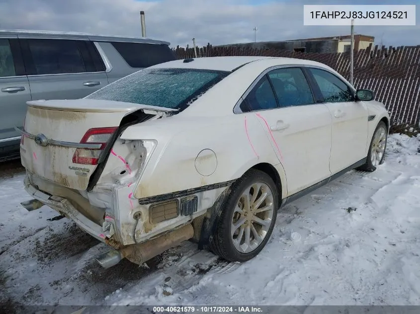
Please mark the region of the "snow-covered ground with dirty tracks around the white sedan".
[[50, 221], [58, 214], [46, 206], [27, 212], [22, 169], [0, 172], [0, 303], [420, 305], [418, 144], [391, 135], [376, 172], [350, 171], [286, 206], [243, 264], [186, 242], [149, 268], [102, 269], [93, 258], [105, 245], [66, 218]]

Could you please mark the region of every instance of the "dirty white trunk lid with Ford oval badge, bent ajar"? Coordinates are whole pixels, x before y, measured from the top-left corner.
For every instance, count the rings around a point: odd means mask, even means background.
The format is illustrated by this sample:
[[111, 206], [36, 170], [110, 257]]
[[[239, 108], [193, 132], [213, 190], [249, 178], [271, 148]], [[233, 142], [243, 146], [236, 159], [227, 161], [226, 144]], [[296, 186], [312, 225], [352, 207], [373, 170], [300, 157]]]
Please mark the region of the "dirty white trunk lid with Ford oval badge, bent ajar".
[[[75, 163], [75, 152], [82, 149], [88, 153], [100, 153], [98, 144], [95, 145], [96, 150], [76, 147], [81, 146], [78, 144], [86, 138], [88, 130], [115, 130], [126, 115], [139, 110], [155, 115], [158, 112], [174, 111], [163, 107], [94, 99], [40, 100], [27, 104], [25, 133], [20, 145], [22, 165], [28, 172], [43, 179], [78, 190], [87, 188], [97, 165], [81, 164], [80, 159], [76, 159]], [[96, 139], [101, 138], [101, 135], [93, 134], [98, 136]], [[91, 143], [97, 141], [90, 143], [88, 139], [87, 143], [91, 146]]]

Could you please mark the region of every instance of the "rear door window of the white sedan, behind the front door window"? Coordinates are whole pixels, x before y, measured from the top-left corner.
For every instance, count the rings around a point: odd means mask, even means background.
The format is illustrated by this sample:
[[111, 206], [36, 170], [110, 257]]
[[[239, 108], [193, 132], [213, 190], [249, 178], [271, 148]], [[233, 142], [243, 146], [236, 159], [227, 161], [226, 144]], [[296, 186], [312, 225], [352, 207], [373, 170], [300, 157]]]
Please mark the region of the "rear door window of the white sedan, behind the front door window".
[[299, 67], [280, 68], [268, 73], [280, 107], [314, 103], [311, 88]]

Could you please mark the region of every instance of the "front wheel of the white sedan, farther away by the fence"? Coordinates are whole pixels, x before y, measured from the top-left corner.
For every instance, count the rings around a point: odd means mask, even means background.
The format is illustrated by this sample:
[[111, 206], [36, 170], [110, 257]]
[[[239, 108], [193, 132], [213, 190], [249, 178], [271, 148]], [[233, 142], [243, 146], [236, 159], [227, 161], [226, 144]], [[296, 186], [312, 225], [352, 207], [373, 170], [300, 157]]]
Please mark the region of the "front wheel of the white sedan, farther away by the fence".
[[385, 160], [387, 140], [388, 128], [383, 121], [380, 121], [378, 126], [376, 126], [375, 132], [373, 132], [366, 163], [357, 168], [357, 170], [372, 172], [375, 171], [379, 165], [383, 164]]

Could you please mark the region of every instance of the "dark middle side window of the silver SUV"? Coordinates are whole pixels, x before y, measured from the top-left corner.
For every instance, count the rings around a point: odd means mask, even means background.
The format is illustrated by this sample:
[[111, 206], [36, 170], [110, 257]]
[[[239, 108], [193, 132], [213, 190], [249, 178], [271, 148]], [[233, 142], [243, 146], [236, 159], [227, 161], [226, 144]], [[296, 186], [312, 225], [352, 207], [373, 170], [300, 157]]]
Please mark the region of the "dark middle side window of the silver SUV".
[[67, 39], [28, 39], [35, 73], [59, 74], [90, 72], [90, 64], [85, 64], [83, 41]]

